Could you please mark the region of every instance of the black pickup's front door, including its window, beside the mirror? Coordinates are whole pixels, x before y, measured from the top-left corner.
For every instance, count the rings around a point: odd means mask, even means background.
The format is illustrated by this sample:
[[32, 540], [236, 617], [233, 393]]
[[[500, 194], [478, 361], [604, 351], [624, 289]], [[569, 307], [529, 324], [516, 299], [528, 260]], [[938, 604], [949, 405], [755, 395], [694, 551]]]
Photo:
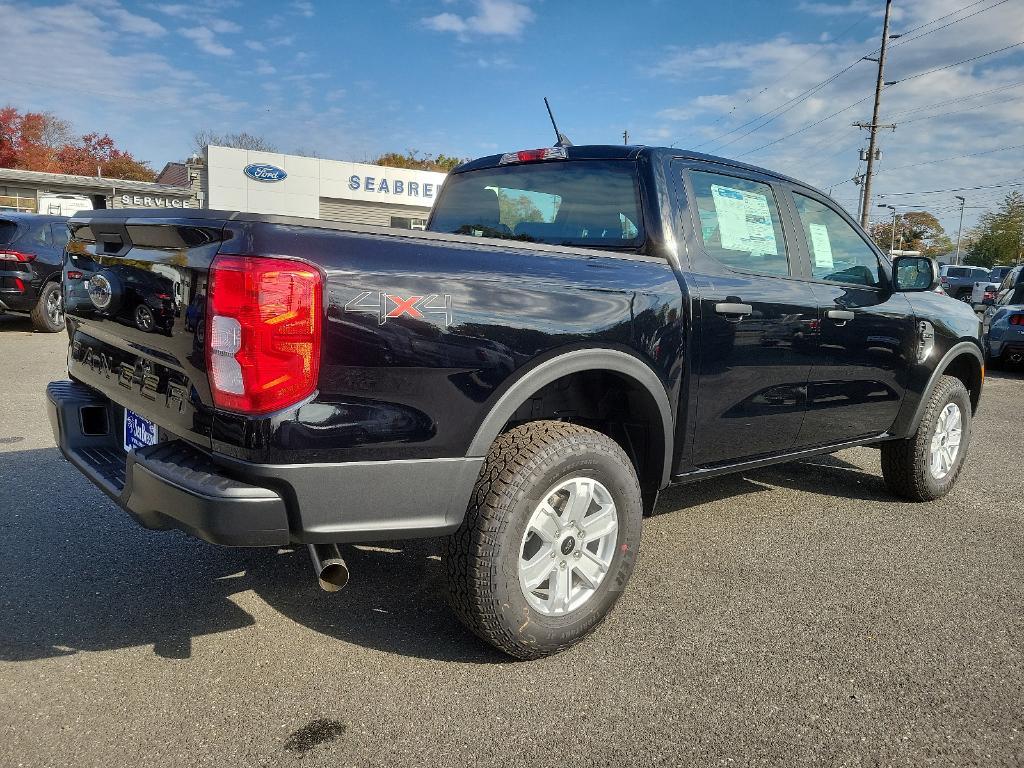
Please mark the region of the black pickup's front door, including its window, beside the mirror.
[[797, 249], [817, 299], [820, 353], [807, 388], [800, 447], [869, 437], [896, 419], [918, 339], [913, 309], [891, 267], [823, 196], [791, 188]]

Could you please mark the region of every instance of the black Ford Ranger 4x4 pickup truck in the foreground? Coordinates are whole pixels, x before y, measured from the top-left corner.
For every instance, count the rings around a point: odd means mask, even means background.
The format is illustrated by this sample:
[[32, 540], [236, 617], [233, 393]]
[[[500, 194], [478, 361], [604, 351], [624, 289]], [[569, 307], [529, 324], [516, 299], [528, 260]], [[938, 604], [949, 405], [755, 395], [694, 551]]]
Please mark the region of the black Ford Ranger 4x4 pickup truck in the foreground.
[[72, 463], [146, 527], [308, 544], [327, 589], [339, 543], [446, 537], [455, 611], [522, 658], [598, 625], [671, 483], [878, 444], [893, 493], [942, 496], [984, 378], [935, 262], [680, 150], [475, 160], [424, 232], [70, 226], [71, 380], [47, 395]]

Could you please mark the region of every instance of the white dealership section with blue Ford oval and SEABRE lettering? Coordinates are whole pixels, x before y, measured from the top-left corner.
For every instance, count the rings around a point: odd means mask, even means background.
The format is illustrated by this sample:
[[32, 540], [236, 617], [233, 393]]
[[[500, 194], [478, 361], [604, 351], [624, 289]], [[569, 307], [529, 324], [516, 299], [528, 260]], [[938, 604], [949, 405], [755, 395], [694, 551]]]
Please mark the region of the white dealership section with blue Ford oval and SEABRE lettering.
[[157, 178], [204, 208], [422, 229], [443, 173], [208, 146]]

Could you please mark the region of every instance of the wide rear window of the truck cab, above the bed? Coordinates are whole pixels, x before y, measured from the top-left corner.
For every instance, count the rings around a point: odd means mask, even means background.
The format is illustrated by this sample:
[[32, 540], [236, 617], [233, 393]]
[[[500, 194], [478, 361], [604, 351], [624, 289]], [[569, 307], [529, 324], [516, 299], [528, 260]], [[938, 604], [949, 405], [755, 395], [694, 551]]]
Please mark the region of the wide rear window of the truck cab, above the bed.
[[429, 229], [528, 243], [637, 248], [643, 240], [633, 161], [529, 163], [456, 173]]

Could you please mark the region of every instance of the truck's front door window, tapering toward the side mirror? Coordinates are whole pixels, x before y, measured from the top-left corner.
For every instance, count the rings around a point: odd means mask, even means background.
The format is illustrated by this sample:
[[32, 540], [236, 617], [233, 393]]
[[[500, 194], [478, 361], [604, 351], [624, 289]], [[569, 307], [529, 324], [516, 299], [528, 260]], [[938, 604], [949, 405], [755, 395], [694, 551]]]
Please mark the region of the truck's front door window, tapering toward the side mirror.
[[814, 278], [872, 288], [883, 284], [878, 256], [846, 219], [816, 200], [799, 193], [793, 197]]

